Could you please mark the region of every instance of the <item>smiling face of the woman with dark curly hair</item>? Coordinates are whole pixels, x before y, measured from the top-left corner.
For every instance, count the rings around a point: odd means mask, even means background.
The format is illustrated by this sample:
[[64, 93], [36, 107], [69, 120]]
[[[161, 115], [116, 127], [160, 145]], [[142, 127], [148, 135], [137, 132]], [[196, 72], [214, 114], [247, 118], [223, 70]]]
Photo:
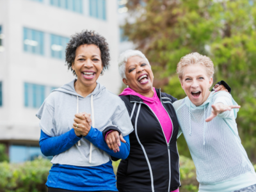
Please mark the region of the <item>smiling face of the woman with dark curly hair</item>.
[[72, 69], [76, 72], [79, 87], [96, 86], [96, 81], [103, 69], [99, 47], [94, 44], [77, 47]]

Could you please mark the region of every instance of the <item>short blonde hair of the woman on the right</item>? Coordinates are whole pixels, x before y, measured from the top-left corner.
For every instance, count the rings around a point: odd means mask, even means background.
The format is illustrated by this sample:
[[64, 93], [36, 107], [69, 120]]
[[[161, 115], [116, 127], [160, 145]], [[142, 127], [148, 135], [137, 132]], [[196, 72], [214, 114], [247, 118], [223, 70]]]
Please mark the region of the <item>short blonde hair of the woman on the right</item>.
[[201, 64], [206, 68], [207, 76], [211, 78], [214, 74], [214, 67], [212, 60], [204, 56], [202, 54], [199, 54], [198, 52], [192, 52], [187, 54], [186, 56], [182, 57], [177, 65], [177, 74], [179, 75], [180, 81], [182, 81], [183, 78], [183, 71], [184, 67], [187, 65], [196, 65]]

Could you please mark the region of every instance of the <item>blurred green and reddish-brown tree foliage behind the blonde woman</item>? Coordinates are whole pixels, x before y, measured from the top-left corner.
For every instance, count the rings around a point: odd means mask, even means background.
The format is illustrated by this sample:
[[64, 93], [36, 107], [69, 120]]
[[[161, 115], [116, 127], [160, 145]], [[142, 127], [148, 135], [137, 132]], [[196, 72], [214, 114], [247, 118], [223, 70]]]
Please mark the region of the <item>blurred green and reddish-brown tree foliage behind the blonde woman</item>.
[[[190, 52], [209, 56], [215, 81], [225, 80], [241, 105], [239, 136], [256, 163], [256, 6], [255, 0], [130, 0], [124, 35], [150, 61], [154, 86], [177, 99], [186, 97], [175, 74], [177, 63]], [[184, 138], [180, 154], [189, 156]]]

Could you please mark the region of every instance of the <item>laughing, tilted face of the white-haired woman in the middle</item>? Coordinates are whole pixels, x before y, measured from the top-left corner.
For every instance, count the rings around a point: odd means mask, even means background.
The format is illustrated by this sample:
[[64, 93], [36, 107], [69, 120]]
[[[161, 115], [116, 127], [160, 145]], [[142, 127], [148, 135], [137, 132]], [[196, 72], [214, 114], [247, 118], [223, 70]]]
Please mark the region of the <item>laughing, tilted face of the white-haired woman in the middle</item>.
[[147, 60], [132, 56], [125, 64], [126, 85], [137, 93], [147, 93], [152, 90], [153, 72]]

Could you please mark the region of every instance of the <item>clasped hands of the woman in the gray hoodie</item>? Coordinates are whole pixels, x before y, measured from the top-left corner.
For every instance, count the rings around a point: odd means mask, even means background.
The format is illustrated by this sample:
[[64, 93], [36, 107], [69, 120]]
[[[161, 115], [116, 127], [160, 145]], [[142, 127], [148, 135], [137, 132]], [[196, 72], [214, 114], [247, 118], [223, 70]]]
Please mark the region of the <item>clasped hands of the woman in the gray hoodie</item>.
[[73, 129], [75, 130], [76, 136], [86, 136], [91, 129], [91, 125], [92, 120], [90, 114], [77, 113], [75, 115]]

